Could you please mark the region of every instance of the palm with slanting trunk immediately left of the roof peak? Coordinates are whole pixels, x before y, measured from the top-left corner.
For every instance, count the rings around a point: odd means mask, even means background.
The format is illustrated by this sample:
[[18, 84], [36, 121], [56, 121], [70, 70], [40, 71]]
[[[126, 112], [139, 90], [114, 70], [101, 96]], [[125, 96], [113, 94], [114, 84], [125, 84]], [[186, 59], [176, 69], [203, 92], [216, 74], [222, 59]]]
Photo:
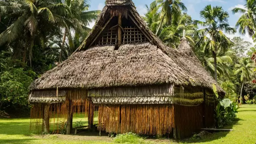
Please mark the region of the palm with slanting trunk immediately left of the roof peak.
[[84, 34], [88, 34], [88, 31], [91, 29], [87, 26], [90, 22], [97, 19], [98, 14], [100, 13], [99, 10], [95, 11], [88, 11], [90, 5], [88, 4], [87, 0], [65, 0], [64, 4], [70, 9], [70, 15], [67, 17], [69, 19], [66, 23], [62, 21], [62, 25], [64, 28], [64, 36], [61, 46], [61, 52], [59, 57], [59, 63], [62, 60], [62, 52], [65, 44], [66, 37], [69, 37], [69, 46], [74, 47], [74, 43], [72, 41], [72, 36], [70, 30], [74, 30], [76, 36], [83, 36]]

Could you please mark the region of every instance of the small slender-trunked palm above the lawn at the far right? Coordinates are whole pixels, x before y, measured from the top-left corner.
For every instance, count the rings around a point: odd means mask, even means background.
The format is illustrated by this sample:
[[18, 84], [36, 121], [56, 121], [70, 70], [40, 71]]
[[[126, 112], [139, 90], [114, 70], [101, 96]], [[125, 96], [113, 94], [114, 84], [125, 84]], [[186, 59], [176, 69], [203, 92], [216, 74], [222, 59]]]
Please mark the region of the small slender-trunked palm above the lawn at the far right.
[[240, 105], [242, 104], [242, 90], [244, 82], [252, 78], [254, 64], [248, 58], [242, 58], [239, 64], [235, 65], [238, 68], [234, 73], [241, 74], [240, 81], [242, 82], [241, 93], [240, 93]]

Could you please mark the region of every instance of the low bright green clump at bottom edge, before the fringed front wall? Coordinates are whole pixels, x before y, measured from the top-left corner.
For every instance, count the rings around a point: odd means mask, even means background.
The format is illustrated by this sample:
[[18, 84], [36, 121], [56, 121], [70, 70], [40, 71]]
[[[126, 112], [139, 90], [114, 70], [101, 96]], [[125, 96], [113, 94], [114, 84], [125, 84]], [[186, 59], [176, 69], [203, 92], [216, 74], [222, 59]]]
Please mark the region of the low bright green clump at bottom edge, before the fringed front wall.
[[144, 144], [145, 141], [142, 137], [134, 133], [125, 133], [125, 134], [118, 134], [114, 138], [115, 143], [134, 143], [134, 144]]

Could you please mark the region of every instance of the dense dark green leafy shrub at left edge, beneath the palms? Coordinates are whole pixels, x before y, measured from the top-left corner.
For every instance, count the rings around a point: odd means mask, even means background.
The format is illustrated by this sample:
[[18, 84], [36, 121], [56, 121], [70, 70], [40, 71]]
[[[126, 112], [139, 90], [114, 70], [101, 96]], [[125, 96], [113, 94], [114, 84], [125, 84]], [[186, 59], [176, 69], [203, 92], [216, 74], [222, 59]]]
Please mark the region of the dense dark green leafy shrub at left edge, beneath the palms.
[[28, 110], [29, 85], [35, 72], [21, 68], [23, 63], [12, 59], [9, 52], [0, 53], [0, 110]]

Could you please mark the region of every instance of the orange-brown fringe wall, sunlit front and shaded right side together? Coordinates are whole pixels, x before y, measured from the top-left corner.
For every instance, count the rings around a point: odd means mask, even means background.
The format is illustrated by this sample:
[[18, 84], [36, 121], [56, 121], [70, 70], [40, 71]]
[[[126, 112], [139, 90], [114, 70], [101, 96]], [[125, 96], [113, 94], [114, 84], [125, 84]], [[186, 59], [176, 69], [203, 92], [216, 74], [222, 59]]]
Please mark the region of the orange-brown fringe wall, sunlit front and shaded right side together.
[[98, 129], [184, 138], [203, 127], [203, 104], [99, 105]]

